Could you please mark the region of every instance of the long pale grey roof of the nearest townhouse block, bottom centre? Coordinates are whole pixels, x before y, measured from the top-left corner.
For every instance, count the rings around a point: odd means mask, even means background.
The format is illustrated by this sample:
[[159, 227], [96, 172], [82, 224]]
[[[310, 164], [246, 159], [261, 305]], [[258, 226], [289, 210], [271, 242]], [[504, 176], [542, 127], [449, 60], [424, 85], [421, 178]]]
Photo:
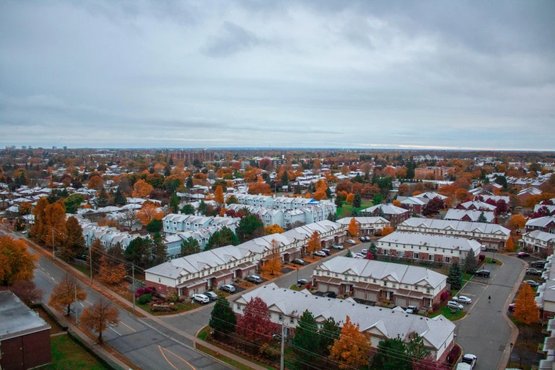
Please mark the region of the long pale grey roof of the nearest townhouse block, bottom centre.
[[336, 323], [344, 323], [347, 316], [363, 332], [379, 330], [384, 337], [402, 340], [412, 332], [421, 335], [429, 347], [439, 349], [452, 335], [455, 325], [443, 315], [425, 318], [409, 315], [388, 308], [372, 307], [352, 303], [350, 300], [328, 299], [290, 289], [279, 288], [274, 283], [261, 286], [236, 298], [234, 302], [246, 304], [252, 298], [261, 298], [269, 310], [299, 318], [305, 310], [313, 313], [317, 323], [334, 318]]

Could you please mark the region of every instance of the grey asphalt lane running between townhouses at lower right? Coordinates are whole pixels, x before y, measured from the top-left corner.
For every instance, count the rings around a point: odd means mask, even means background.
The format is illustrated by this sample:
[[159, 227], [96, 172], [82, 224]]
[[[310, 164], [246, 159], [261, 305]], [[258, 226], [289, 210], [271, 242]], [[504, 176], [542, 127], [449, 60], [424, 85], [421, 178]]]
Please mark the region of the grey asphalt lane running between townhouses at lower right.
[[[493, 253], [486, 252], [488, 257]], [[513, 288], [520, 284], [520, 274], [525, 263], [520, 259], [495, 254], [495, 258], [503, 262], [502, 267], [488, 265], [491, 277], [473, 277], [466, 284], [461, 295], [472, 298], [473, 305], [462, 320], [456, 321], [456, 342], [461, 344], [464, 353], [478, 357], [476, 370], [492, 370], [501, 368], [505, 350], [508, 350], [511, 338], [511, 327], [505, 318], [505, 303], [512, 301]], [[491, 296], [491, 303], [488, 302]]]

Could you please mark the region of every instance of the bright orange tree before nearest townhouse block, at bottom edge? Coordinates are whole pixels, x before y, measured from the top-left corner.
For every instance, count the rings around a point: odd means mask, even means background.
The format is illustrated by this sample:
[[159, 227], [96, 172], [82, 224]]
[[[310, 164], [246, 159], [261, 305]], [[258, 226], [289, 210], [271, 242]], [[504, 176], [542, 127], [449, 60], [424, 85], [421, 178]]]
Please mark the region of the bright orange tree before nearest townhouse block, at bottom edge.
[[368, 365], [370, 347], [370, 335], [361, 332], [360, 325], [354, 325], [347, 315], [340, 339], [330, 348], [330, 359], [337, 361], [340, 369], [358, 369]]

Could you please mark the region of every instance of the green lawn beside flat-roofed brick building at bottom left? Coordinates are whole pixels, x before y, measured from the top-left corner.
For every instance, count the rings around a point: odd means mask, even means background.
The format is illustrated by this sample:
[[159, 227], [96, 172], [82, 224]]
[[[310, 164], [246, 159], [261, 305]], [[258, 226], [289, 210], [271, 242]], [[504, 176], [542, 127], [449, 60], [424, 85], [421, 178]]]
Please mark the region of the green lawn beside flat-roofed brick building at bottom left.
[[40, 369], [108, 370], [92, 354], [86, 352], [67, 335], [51, 337], [50, 347], [52, 348], [52, 364], [42, 366]]

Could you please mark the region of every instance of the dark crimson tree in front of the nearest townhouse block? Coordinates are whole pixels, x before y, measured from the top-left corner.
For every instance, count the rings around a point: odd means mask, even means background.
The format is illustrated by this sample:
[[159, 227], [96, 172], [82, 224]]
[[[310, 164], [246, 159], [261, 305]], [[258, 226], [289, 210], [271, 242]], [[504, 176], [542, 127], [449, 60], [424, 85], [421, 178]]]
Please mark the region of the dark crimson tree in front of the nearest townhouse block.
[[247, 342], [256, 343], [257, 348], [271, 342], [271, 335], [279, 332], [280, 327], [269, 319], [267, 304], [262, 298], [256, 297], [251, 298], [242, 315], [237, 318], [235, 330], [237, 334], [245, 337]]

